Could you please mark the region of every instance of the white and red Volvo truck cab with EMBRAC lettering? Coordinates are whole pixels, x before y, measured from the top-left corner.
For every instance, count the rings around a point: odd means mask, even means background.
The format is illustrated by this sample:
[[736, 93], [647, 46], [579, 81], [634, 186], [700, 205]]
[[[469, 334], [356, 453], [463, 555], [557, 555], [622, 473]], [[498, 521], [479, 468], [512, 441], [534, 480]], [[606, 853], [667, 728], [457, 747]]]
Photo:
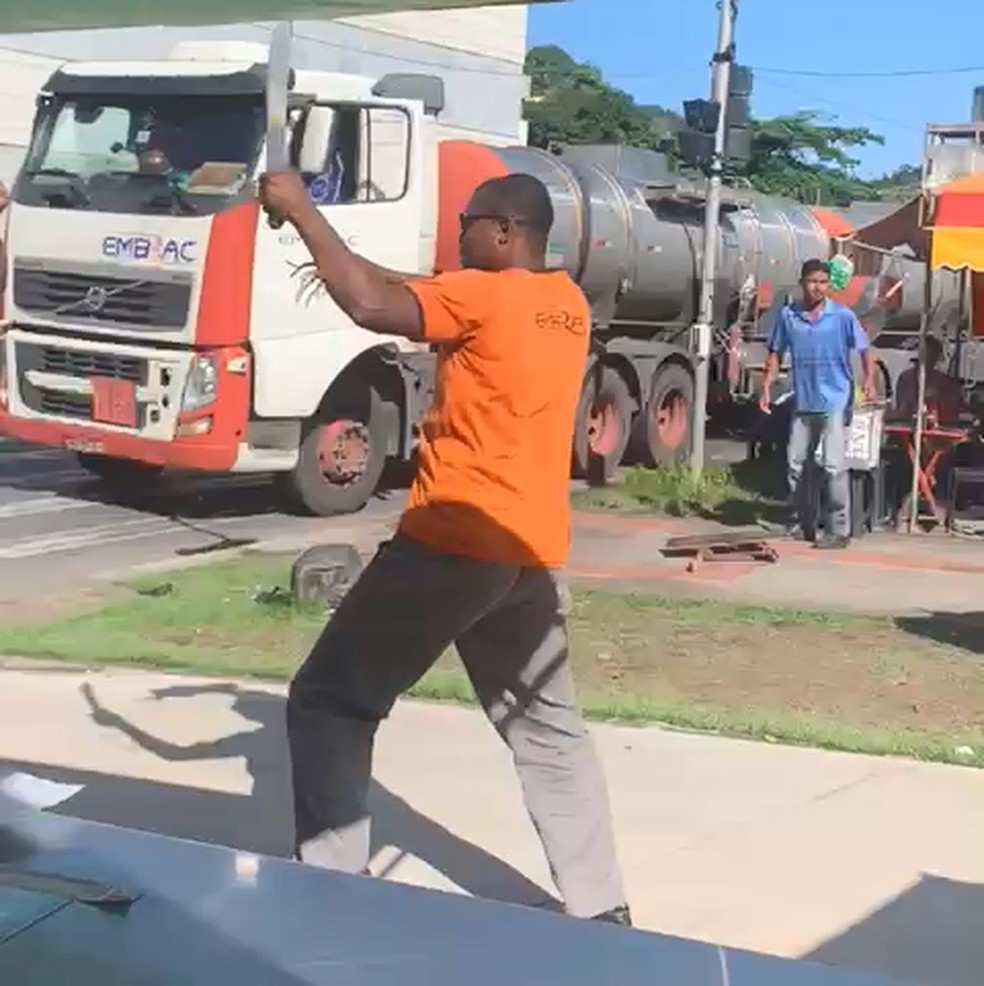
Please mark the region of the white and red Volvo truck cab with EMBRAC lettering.
[[[262, 214], [266, 52], [186, 44], [49, 80], [7, 216], [0, 431], [107, 479], [280, 473], [327, 514], [410, 454], [432, 357], [305, 290], [307, 251]], [[442, 106], [433, 77], [293, 73], [294, 163], [386, 267], [433, 268]]]

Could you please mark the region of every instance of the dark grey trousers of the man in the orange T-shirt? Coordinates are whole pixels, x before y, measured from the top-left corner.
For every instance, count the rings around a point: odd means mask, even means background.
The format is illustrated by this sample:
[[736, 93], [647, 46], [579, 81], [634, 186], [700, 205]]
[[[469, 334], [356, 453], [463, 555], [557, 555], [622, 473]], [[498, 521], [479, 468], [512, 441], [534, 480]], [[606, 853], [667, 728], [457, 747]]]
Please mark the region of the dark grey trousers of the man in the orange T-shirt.
[[527, 810], [569, 913], [625, 902], [608, 791], [568, 665], [555, 573], [382, 545], [291, 683], [296, 851], [357, 873], [369, 862], [373, 741], [397, 697], [452, 644], [512, 751]]

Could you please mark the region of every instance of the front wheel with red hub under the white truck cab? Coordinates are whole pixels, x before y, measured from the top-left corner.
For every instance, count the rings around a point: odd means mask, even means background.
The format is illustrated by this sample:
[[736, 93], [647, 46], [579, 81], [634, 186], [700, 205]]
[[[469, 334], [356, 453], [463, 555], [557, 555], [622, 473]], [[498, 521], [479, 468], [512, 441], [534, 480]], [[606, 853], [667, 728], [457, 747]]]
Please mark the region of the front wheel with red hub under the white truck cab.
[[386, 465], [387, 435], [379, 394], [329, 401], [301, 432], [297, 465], [286, 475], [291, 499], [316, 517], [361, 510]]

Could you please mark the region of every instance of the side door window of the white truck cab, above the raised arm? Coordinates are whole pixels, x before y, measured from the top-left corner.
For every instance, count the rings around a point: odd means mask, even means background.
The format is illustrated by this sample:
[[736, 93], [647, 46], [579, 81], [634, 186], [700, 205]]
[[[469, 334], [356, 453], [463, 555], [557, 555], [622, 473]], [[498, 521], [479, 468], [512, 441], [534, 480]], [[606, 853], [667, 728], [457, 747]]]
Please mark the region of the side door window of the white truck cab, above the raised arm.
[[311, 107], [298, 168], [317, 205], [393, 202], [409, 180], [410, 119], [399, 108]]

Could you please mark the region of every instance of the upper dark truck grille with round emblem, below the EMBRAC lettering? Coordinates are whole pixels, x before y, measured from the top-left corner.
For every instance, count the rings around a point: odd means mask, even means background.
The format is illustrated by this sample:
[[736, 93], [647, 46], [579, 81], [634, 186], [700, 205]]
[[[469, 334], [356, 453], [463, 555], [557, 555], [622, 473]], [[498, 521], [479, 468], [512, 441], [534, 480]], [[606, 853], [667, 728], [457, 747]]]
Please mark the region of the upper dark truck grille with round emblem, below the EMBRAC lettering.
[[191, 279], [107, 277], [15, 263], [14, 305], [72, 322], [183, 328], [191, 305]]

